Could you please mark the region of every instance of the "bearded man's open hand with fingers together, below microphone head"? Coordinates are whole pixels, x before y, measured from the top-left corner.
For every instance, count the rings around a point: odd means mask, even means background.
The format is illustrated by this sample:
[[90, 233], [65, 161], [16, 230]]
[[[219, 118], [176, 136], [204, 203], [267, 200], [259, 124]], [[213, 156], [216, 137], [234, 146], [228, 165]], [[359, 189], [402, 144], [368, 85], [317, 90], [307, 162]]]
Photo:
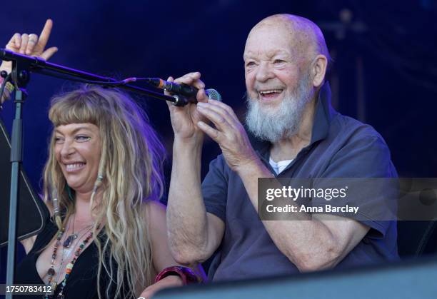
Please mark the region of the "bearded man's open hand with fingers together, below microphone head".
[[258, 161], [255, 151], [248, 141], [246, 131], [232, 108], [220, 101], [197, 103], [197, 110], [214, 123], [216, 128], [199, 121], [197, 126], [218, 143], [228, 166], [239, 171]]

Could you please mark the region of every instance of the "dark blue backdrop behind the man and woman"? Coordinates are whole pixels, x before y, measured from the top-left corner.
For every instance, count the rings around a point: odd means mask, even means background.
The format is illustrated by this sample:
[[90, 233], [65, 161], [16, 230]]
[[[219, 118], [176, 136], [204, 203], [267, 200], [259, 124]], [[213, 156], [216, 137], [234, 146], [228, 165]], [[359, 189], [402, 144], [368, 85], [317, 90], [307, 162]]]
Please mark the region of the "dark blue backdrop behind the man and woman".
[[[341, 21], [343, 9], [352, 14], [348, 24]], [[49, 46], [59, 47], [52, 62], [117, 78], [167, 78], [201, 71], [206, 85], [220, 91], [223, 101], [243, 117], [246, 36], [258, 21], [277, 13], [306, 16], [321, 26], [335, 61], [330, 75], [334, 106], [381, 133], [398, 173], [437, 176], [437, 4], [433, 0], [3, 1], [0, 46], [15, 32], [39, 34], [51, 18], [54, 30]], [[69, 86], [38, 74], [29, 84], [24, 168], [37, 190], [51, 129], [49, 99]], [[170, 159], [173, 137], [166, 104], [147, 99], [144, 106]], [[1, 112], [9, 129], [13, 108], [11, 102], [5, 103]], [[218, 146], [207, 141], [203, 174], [218, 153]]]

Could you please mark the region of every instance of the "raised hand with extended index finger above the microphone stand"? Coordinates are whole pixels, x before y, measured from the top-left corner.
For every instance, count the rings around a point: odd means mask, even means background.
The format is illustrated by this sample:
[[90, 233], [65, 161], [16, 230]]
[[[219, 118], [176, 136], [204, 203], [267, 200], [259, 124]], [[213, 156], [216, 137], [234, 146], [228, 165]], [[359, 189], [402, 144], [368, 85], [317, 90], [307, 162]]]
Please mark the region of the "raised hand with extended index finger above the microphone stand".
[[[47, 42], [49, 41], [52, 27], [53, 21], [48, 19], [39, 37], [36, 34], [14, 34], [8, 44], [6, 44], [6, 49], [15, 53], [36, 56], [41, 59], [48, 60], [56, 53], [56, 51], [58, 51], [58, 48], [55, 46], [44, 50]], [[10, 73], [11, 70], [11, 61], [3, 61], [1, 63], [0, 71], [7, 71]]]

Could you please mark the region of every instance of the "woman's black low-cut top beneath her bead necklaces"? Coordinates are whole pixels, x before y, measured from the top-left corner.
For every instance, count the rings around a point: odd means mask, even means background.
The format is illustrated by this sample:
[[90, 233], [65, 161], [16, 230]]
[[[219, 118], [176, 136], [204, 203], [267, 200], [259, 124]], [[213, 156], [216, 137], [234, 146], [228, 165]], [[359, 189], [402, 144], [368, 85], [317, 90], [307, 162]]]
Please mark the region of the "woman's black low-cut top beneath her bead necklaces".
[[[38, 271], [36, 270], [36, 260], [42, 252], [41, 249], [44, 248], [52, 240], [57, 231], [58, 228], [54, 224], [53, 219], [47, 221], [44, 230], [42, 230], [41, 233], [39, 233], [39, 235], [36, 237], [34, 247], [17, 266], [15, 283], [28, 285], [44, 284], [39, 276]], [[99, 234], [99, 238], [101, 238], [102, 235], [104, 234]], [[61, 250], [61, 248], [59, 248], [59, 250]], [[63, 291], [65, 298], [99, 298], [97, 293], [97, 270], [99, 267], [98, 262], [99, 253], [97, 250], [97, 246], [94, 242], [91, 242], [91, 244], [81, 252], [79, 258], [77, 258], [76, 263], [74, 263], [74, 267], [71, 270], [71, 274], [66, 280], [66, 285]], [[67, 263], [69, 263], [69, 261]], [[103, 270], [103, 273], [104, 272], [105, 271]], [[59, 278], [59, 280], [62, 279], [63, 277]], [[101, 281], [108, 280], [106, 278], [103, 278]], [[59, 290], [60, 286], [58, 285], [58, 288], [56, 288], [56, 294], [59, 293]], [[112, 288], [111, 290], [113, 292], [115, 291], [114, 288]], [[101, 286], [101, 294], [104, 298], [106, 298], [106, 295], [104, 295], [105, 292], [106, 283], [104, 284], [104, 286]], [[109, 298], [114, 298], [114, 293], [111, 293]], [[20, 298], [41, 298], [41, 295], [20, 295]]]

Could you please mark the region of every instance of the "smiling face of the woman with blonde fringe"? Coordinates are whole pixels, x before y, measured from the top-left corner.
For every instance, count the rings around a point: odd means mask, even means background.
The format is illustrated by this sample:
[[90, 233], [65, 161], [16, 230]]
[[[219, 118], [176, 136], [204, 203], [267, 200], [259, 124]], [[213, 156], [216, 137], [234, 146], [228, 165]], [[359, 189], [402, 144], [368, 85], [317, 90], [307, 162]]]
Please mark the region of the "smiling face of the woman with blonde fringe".
[[66, 182], [76, 192], [91, 192], [101, 156], [99, 127], [92, 123], [57, 126], [54, 138], [56, 161]]

